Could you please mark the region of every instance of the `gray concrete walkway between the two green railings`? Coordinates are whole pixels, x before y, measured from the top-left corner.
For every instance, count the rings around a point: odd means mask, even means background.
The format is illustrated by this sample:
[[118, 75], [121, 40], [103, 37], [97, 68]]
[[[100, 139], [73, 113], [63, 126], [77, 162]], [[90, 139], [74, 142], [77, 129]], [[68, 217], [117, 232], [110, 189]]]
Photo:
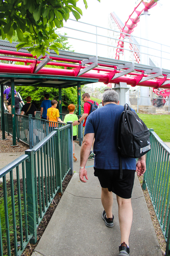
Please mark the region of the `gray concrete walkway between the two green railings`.
[[[101, 187], [94, 176], [94, 160], [87, 161], [89, 180], [79, 180], [80, 146], [75, 146], [77, 162], [68, 184], [32, 256], [117, 256], [120, 243], [118, 206], [114, 195], [114, 227], [101, 217]], [[133, 223], [130, 234], [131, 256], [162, 256], [145, 197], [135, 175], [132, 194]]]

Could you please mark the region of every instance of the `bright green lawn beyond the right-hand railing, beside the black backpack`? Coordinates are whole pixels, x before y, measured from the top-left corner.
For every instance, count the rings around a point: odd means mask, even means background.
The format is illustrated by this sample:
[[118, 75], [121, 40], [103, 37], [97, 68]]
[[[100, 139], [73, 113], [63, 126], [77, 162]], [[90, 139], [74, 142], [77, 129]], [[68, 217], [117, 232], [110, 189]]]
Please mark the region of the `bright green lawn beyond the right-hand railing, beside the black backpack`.
[[170, 142], [170, 116], [138, 114], [148, 128], [153, 128], [164, 142]]

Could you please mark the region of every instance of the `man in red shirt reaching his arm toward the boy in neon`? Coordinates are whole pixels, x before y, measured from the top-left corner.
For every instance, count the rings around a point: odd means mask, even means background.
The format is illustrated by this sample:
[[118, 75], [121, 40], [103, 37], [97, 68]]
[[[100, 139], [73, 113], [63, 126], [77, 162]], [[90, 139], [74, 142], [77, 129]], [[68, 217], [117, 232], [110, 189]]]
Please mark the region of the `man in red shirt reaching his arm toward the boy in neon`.
[[[75, 121], [73, 123], [73, 126], [74, 125], [79, 125], [84, 120], [84, 123], [83, 123], [83, 136], [84, 136], [86, 119], [87, 119], [87, 116], [90, 114], [90, 107], [91, 107], [90, 103], [88, 103], [87, 101], [89, 101], [91, 103], [94, 103], [94, 101], [90, 99], [90, 95], [88, 93], [84, 93], [82, 95], [82, 100], [84, 101], [84, 113], [83, 113], [82, 117], [78, 121]], [[97, 105], [99, 105], [99, 104], [97, 103]], [[88, 158], [89, 159], [90, 158], [94, 159], [94, 153], [92, 151], [90, 151], [90, 154], [89, 154]]]

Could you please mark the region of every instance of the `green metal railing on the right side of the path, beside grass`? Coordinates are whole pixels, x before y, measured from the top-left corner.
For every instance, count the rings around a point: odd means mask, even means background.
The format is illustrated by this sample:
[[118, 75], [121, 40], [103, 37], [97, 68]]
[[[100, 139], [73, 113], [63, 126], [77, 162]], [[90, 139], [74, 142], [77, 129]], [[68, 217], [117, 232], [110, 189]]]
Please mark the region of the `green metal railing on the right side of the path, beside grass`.
[[166, 256], [170, 255], [170, 149], [150, 129], [151, 151], [146, 157], [143, 189], [148, 189], [160, 228], [167, 242]]

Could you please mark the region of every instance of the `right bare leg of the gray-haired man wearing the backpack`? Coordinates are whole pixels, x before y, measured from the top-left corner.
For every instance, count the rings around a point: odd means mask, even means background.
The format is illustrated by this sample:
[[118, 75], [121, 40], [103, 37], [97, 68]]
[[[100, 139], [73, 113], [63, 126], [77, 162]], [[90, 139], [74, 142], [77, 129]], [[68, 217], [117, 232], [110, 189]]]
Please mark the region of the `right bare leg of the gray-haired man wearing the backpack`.
[[125, 242], [129, 246], [129, 235], [131, 231], [133, 211], [131, 198], [125, 199], [117, 196], [119, 207], [119, 224], [121, 232], [121, 243]]

